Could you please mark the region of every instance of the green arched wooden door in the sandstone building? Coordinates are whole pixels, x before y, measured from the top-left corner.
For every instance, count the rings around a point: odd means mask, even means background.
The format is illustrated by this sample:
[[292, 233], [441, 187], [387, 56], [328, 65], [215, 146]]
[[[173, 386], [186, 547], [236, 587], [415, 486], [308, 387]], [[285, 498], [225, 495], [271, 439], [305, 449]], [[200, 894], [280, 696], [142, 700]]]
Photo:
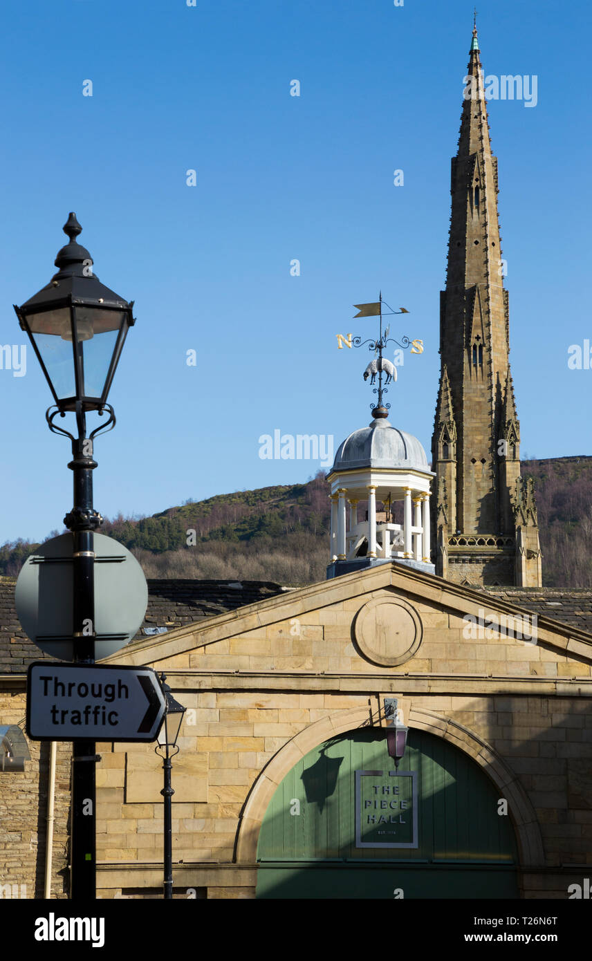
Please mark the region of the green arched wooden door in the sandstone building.
[[258, 898], [517, 898], [514, 833], [498, 801], [481, 768], [441, 738], [409, 730], [395, 773], [383, 730], [350, 731], [309, 752], [274, 794]]

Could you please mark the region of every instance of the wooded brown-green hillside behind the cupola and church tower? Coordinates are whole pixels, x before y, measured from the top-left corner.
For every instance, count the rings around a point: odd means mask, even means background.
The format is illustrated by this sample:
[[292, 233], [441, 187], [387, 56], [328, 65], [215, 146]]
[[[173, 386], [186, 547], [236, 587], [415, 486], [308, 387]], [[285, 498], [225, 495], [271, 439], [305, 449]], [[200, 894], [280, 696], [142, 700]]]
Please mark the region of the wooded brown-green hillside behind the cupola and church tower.
[[[535, 483], [543, 583], [592, 587], [592, 457], [527, 460], [522, 473]], [[106, 520], [101, 532], [136, 554], [148, 578], [302, 585], [325, 579], [328, 493], [320, 472], [308, 483], [189, 500], [151, 517], [120, 515]], [[37, 547], [20, 540], [4, 544], [0, 574], [17, 575]]]

